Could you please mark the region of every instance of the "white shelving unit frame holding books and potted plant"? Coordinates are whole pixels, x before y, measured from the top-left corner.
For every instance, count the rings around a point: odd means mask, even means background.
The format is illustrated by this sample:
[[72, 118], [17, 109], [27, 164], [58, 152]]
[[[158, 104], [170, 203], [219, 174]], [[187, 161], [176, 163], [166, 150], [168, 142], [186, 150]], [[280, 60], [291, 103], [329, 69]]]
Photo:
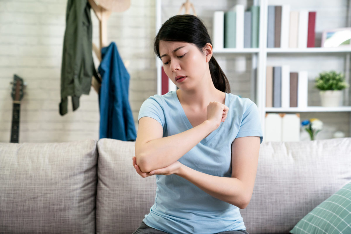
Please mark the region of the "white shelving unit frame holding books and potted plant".
[[[161, 27], [161, 0], [156, 1], [156, 32], [158, 32]], [[235, 0], [233, 0], [235, 1]], [[350, 100], [350, 88], [346, 89], [344, 100], [346, 100], [346, 104], [349, 106], [341, 106], [341, 107], [321, 107], [321, 106], [308, 106], [307, 108], [267, 108], [266, 107], [266, 66], [267, 60], [269, 60], [270, 55], [274, 56], [291, 56], [291, 55], [299, 55], [299, 56], [321, 56], [321, 55], [337, 55], [344, 56], [345, 58], [345, 77], [346, 82], [351, 84], [350, 77], [350, 55], [351, 55], [351, 47], [337, 47], [337, 48], [267, 48], [267, 7], [268, 5], [283, 5], [289, 4], [290, 0], [282, 1], [280, 4], [269, 4], [269, 0], [254, 0], [254, 5], [260, 6], [260, 24], [259, 24], [259, 48], [244, 48], [244, 49], [236, 49], [236, 48], [223, 48], [223, 49], [213, 49], [214, 55], [216, 54], [234, 54], [234, 55], [242, 55], [247, 54], [251, 55], [252, 58], [252, 68], [257, 68], [257, 80], [256, 80], [256, 90], [254, 90], [254, 86], [251, 88], [251, 100], [256, 102], [259, 112], [260, 112], [260, 120], [263, 133], [265, 133], [265, 115], [266, 113], [306, 113], [306, 112], [350, 112], [351, 113], [351, 100]], [[348, 4], [347, 10], [347, 26], [351, 27], [351, 4]], [[199, 15], [201, 18], [201, 15]], [[161, 67], [162, 63], [157, 58], [157, 93], [161, 94]], [[255, 79], [255, 75], [252, 75], [252, 80]], [[251, 82], [254, 84], [255, 82]], [[349, 121], [350, 133], [351, 136], [351, 118]]]

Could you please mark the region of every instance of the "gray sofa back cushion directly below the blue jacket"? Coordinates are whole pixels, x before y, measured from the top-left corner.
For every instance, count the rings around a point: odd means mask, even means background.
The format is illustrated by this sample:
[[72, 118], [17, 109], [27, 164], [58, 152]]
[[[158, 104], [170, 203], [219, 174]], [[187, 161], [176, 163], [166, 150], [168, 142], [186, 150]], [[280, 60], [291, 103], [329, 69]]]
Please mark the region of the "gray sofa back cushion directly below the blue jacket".
[[141, 178], [132, 165], [135, 142], [98, 141], [97, 233], [131, 234], [154, 203], [155, 176]]

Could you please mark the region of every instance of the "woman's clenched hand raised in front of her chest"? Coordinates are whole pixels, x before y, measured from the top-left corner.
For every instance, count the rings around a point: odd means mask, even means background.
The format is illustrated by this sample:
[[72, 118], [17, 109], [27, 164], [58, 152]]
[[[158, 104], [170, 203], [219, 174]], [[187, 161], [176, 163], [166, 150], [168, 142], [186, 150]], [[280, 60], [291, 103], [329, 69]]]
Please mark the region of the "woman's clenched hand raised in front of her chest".
[[213, 123], [214, 130], [216, 130], [221, 122], [227, 118], [229, 108], [220, 102], [212, 101], [207, 106], [207, 120]]

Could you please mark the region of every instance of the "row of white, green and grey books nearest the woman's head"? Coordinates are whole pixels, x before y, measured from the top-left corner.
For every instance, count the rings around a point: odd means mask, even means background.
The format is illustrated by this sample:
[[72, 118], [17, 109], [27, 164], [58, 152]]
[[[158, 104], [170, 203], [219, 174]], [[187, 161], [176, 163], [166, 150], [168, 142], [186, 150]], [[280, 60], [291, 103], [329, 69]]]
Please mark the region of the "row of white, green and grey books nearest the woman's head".
[[259, 12], [259, 6], [251, 6], [245, 11], [245, 6], [241, 4], [229, 11], [215, 11], [213, 48], [258, 48]]

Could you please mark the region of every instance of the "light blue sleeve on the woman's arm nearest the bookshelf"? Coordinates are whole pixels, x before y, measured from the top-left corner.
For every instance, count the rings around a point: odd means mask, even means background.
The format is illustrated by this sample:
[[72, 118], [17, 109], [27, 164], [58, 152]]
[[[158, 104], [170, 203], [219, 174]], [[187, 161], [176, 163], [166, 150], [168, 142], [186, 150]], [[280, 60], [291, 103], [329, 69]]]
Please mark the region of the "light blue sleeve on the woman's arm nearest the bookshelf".
[[243, 136], [259, 136], [263, 140], [263, 133], [261, 128], [261, 122], [259, 119], [259, 112], [256, 104], [252, 102], [243, 114], [241, 119], [241, 125], [236, 138]]

